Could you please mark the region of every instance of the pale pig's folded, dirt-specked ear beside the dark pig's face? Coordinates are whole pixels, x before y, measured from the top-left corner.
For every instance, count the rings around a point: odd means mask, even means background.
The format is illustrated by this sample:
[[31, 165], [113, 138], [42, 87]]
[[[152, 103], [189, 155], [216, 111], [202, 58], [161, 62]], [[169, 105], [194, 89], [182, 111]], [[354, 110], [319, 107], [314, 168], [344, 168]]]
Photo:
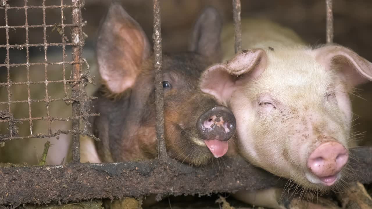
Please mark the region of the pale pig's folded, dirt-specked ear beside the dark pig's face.
[[243, 50], [230, 61], [207, 68], [200, 88], [225, 103], [238, 86], [259, 77], [266, 65], [267, 55], [263, 49]]

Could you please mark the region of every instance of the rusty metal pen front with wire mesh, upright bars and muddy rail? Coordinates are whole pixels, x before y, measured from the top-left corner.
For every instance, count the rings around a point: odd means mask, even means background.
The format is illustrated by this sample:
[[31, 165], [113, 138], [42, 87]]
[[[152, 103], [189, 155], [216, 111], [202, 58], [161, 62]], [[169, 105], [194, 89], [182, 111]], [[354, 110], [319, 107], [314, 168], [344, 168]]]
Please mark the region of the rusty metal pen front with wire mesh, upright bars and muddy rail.
[[[1, 1], [1, 2], [4, 2]], [[82, 65], [85, 60], [82, 57], [82, 49], [84, 38], [82, 28], [84, 22], [81, 17], [81, 8], [84, 5], [83, 0], [72, 0], [72, 6], [28, 6], [25, 0], [24, 7], [10, 7], [2, 5], [1, 9], [25, 9], [26, 24], [24, 26], [8, 26], [6, 16], [6, 26], [1, 26], [6, 30], [7, 44], [0, 45], [0, 48], [6, 48], [7, 59], [5, 64], [1, 66], [7, 67], [7, 83], [0, 83], [1, 86], [6, 86], [8, 90], [8, 101], [1, 102], [8, 104], [9, 112], [7, 118], [0, 118], [0, 122], [8, 122], [10, 125], [18, 121], [29, 121], [32, 131], [33, 120], [48, 120], [48, 135], [30, 135], [26, 137], [17, 137], [14, 130], [10, 128], [8, 137], [0, 138], [1, 141], [17, 138], [44, 138], [56, 136], [61, 133], [73, 134], [73, 162], [58, 166], [36, 166], [36, 167], [9, 167], [0, 169], [0, 208], [16, 208], [25, 203], [67, 203], [78, 202], [81, 200], [90, 200], [94, 198], [120, 198], [123, 196], [142, 197], [149, 194], [158, 194], [157, 199], [167, 195], [181, 194], [210, 194], [215, 192], [236, 192], [238, 190], [257, 190], [272, 186], [282, 186], [287, 180], [280, 179], [260, 168], [250, 165], [242, 158], [227, 158], [225, 166], [214, 167], [208, 165], [202, 168], [190, 167], [176, 160], [167, 157], [166, 147], [164, 142], [164, 113], [163, 113], [163, 88], [161, 86], [161, 20], [160, 20], [160, 1], [153, 0], [154, 9], [154, 69], [155, 69], [155, 103], [156, 103], [156, 133], [159, 142], [159, 160], [142, 161], [142, 162], [125, 162], [125, 163], [104, 163], [104, 164], [81, 164], [79, 162], [79, 135], [91, 135], [86, 129], [80, 130], [79, 119], [85, 119], [88, 110], [81, 108], [84, 102], [89, 98], [85, 95], [84, 82], [87, 82], [87, 74], [82, 71]], [[327, 43], [333, 39], [333, 16], [332, 16], [332, 1], [327, 2]], [[1, 3], [0, 3], [1, 4]], [[232, 0], [233, 15], [235, 25], [235, 53], [241, 51], [241, 23], [240, 23], [240, 0]], [[63, 9], [71, 7], [72, 24], [64, 24]], [[41, 8], [43, 9], [43, 25], [28, 25], [27, 9]], [[61, 23], [58, 25], [62, 29], [61, 43], [48, 43], [45, 38], [45, 30], [54, 25], [45, 24], [45, 9], [46, 8], [61, 8]], [[28, 28], [43, 28], [44, 43], [29, 44], [28, 43]], [[64, 29], [71, 27], [71, 42], [66, 42], [64, 39]], [[9, 29], [25, 28], [26, 43], [22, 45], [9, 44]], [[48, 62], [47, 50], [48, 46], [62, 46], [63, 55], [65, 55], [65, 46], [73, 46], [73, 61], [67, 62]], [[44, 48], [45, 60], [41, 63], [29, 63], [28, 48], [31, 46], [42, 46]], [[9, 49], [25, 47], [27, 50], [27, 63], [25, 64], [10, 64]], [[64, 56], [63, 56], [64, 57]], [[59, 64], [63, 66], [63, 80], [48, 81], [47, 66], [51, 64]], [[31, 82], [29, 80], [29, 67], [31, 65], [45, 66], [45, 81]], [[70, 79], [65, 77], [65, 66], [72, 65], [73, 73]], [[28, 72], [27, 82], [13, 83], [10, 80], [10, 67], [26, 66]], [[89, 73], [89, 72], [88, 72]], [[11, 101], [10, 86], [19, 84], [42, 83], [46, 87], [49, 83], [63, 83], [65, 97], [61, 99], [45, 99], [33, 100], [30, 98], [28, 88], [28, 100]], [[71, 85], [72, 96], [68, 97], [66, 87]], [[49, 102], [55, 100], [63, 100], [66, 103], [72, 103], [73, 115], [68, 118], [55, 118], [49, 114], [47, 117], [34, 118], [31, 114], [30, 104], [32, 102], [45, 102], [48, 106]], [[11, 115], [10, 104], [12, 103], [28, 103], [29, 118], [15, 119]], [[2, 115], [0, 115], [3, 117]], [[60, 130], [53, 133], [50, 129], [50, 121], [53, 120], [73, 120], [72, 130]], [[16, 130], [16, 129], [15, 129]], [[361, 181], [362, 183], [372, 182], [372, 148], [357, 148], [351, 151], [354, 158], [351, 159], [351, 165], [355, 168], [356, 173], [353, 180]], [[4, 185], [4, 186], [3, 186]]]

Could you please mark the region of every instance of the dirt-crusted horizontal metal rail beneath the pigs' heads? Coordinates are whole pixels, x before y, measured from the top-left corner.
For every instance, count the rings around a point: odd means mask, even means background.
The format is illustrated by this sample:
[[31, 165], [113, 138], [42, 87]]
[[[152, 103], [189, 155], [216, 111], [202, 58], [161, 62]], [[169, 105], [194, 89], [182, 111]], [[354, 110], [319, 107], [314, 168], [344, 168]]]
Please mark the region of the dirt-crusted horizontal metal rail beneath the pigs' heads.
[[[355, 179], [372, 182], [372, 147], [352, 150]], [[357, 159], [357, 161], [355, 160]], [[284, 186], [286, 181], [242, 158], [190, 167], [175, 160], [128, 163], [71, 163], [0, 169], [0, 206], [20, 203], [79, 202], [93, 198], [211, 194]]]

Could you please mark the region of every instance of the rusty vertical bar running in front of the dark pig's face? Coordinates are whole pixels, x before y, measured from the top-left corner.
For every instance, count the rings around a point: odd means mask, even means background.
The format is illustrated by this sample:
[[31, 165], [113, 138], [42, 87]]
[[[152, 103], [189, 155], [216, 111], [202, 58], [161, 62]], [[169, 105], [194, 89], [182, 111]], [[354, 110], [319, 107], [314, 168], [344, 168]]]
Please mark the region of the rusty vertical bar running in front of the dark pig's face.
[[156, 138], [158, 140], [159, 159], [167, 158], [167, 150], [164, 141], [164, 94], [163, 74], [161, 73], [161, 19], [160, 2], [153, 0], [154, 6], [154, 68], [155, 68], [155, 112], [156, 112]]

